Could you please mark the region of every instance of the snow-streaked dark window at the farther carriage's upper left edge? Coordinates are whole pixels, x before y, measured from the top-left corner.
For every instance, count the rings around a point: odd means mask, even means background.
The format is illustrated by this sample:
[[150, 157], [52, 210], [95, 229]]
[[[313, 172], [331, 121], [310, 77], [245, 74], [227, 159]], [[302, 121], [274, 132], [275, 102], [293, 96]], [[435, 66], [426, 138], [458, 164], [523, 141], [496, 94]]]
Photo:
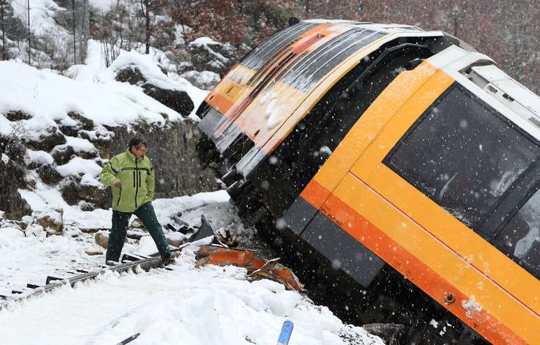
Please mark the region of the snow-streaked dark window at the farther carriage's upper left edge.
[[271, 57], [273, 57], [278, 50], [287, 45], [294, 39], [298, 38], [301, 34], [316, 27], [316, 23], [303, 23], [287, 27], [281, 31], [273, 34], [267, 41], [264, 41], [254, 50], [252, 50], [247, 57], [241, 61], [242, 66], [258, 70], [264, 65]]

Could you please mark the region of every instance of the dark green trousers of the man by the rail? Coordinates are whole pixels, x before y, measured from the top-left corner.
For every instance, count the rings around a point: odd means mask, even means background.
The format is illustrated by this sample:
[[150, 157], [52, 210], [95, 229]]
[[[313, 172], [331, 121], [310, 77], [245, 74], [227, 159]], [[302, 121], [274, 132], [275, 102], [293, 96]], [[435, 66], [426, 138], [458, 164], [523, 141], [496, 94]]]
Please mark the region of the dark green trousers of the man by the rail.
[[[145, 203], [133, 213], [135, 216], [139, 217], [144, 224], [144, 227], [147, 228], [153, 238], [153, 241], [156, 242], [156, 247], [158, 247], [161, 257], [170, 257], [171, 252], [169, 250], [169, 244], [167, 243], [167, 239], [165, 239], [165, 235], [163, 235], [163, 229], [158, 223], [156, 212], [153, 211], [152, 203]], [[112, 228], [109, 235], [109, 244], [107, 246], [107, 256], [105, 260], [118, 262], [120, 259], [123, 241], [126, 240], [129, 219], [133, 213], [112, 210]]]

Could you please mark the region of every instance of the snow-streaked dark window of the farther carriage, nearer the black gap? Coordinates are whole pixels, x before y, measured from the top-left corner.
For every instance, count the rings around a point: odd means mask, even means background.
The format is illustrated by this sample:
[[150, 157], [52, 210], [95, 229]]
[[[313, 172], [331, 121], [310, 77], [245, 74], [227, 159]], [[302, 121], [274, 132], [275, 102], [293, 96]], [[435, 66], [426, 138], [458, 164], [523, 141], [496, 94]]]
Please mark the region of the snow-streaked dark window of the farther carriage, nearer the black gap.
[[347, 57], [368, 45], [369, 43], [384, 36], [367, 29], [351, 29], [333, 40], [318, 47], [305, 58], [290, 68], [283, 82], [302, 91], [308, 91], [332, 68], [338, 66]]

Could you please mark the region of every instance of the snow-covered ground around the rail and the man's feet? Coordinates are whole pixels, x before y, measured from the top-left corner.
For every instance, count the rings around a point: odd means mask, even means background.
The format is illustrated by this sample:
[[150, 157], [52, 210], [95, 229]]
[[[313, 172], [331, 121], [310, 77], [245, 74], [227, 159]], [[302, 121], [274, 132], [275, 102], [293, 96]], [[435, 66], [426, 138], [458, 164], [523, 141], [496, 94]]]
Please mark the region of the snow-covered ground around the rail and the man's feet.
[[[158, 219], [173, 214], [196, 224], [204, 213], [216, 229], [249, 237], [224, 191], [155, 200]], [[47, 275], [69, 276], [76, 268], [100, 267], [104, 250], [93, 234], [78, 226], [110, 226], [110, 210], [70, 214], [63, 235], [45, 237], [30, 227], [27, 237], [16, 226], [0, 226], [0, 291], [44, 284]], [[33, 233], [30, 229], [33, 229]], [[130, 242], [124, 251], [144, 244]], [[89, 255], [87, 251], [102, 251]], [[170, 270], [138, 274], [107, 272], [74, 288], [64, 286], [0, 311], [0, 344], [117, 344], [140, 333], [130, 344], [271, 344], [285, 320], [294, 322], [291, 345], [384, 344], [358, 327], [344, 325], [326, 307], [269, 280], [246, 280], [246, 269], [195, 268], [197, 243], [183, 249]], [[74, 272], [76, 274], [76, 272]], [[24, 290], [28, 292], [28, 290]]]

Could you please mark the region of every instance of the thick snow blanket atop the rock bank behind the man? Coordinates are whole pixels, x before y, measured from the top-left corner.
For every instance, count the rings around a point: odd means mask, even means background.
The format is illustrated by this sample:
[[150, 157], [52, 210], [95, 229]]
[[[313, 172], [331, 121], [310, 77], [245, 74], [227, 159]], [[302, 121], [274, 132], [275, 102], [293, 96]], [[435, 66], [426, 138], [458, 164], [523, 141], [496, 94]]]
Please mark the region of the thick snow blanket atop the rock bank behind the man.
[[[68, 112], [109, 126], [139, 119], [164, 124], [162, 114], [171, 121], [181, 120], [179, 113], [145, 95], [139, 87], [114, 80], [77, 82], [15, 61], [0, 61], [0, 75], [9, 80], [0, 84], [0, 114], [21, 110], [36, 117], [22, 121], [31, 133], [56, 126], [53, 120], [68, 119]], [[2, 131], [7, 124], [0, 122]]]

